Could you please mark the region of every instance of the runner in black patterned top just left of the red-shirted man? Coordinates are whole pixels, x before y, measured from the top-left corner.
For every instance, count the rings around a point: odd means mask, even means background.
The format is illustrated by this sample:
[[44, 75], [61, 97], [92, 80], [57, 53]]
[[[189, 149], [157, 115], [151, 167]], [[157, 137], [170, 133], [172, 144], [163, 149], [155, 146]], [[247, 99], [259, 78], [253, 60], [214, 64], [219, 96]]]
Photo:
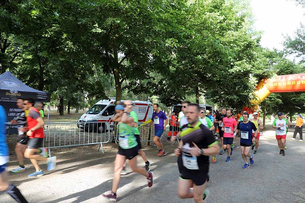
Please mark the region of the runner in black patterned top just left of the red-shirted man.
[[17, 107], [21, 109], [20, 115], [17, 117], [17, 120], [12, 120], [12, 124], [19, 124], [18, 126], [18, 135], [17, 135], [17, 143], [15, 147], [15, 152], [17, 155], [17, 159], [19, 161], [19, 166], [16, 169], [11, 170], [13, 173], [25, 171], [27, 167], [24, 166], [23, 154], [25, 149], [27, 148], [28, 137], [25, 134], [25, 131], [22, 129], [27, 125], [27, 118], [25, 117], [25, 112], [23, 108], [23, 98], [17, 99]]

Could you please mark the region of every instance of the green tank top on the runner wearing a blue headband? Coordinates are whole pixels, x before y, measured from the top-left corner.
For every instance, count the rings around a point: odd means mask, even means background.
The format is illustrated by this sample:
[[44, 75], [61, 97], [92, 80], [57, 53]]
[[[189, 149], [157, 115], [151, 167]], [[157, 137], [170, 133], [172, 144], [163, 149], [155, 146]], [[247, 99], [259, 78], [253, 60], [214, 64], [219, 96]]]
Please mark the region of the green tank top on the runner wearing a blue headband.
[[134, 134], [134, 127], [128, 124], [119, 123], [119, 146], [122, 149], [130, 149], [137, 146], [137, 139]]

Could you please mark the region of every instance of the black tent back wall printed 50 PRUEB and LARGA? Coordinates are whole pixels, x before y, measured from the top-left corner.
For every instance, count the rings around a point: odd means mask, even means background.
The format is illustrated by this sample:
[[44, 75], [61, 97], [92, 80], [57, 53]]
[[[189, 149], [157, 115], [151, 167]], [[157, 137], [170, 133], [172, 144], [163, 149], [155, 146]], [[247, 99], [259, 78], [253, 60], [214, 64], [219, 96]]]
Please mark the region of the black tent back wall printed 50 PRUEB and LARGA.
[[[16, 106], [15, 102], [0, 102], [6, 112], [7, 122], [11, 120], [17, 120], [17, 117], [20, 116], [21, 109]], [[17, 134], [18, 125], [6, 125], [6, 133]]]

